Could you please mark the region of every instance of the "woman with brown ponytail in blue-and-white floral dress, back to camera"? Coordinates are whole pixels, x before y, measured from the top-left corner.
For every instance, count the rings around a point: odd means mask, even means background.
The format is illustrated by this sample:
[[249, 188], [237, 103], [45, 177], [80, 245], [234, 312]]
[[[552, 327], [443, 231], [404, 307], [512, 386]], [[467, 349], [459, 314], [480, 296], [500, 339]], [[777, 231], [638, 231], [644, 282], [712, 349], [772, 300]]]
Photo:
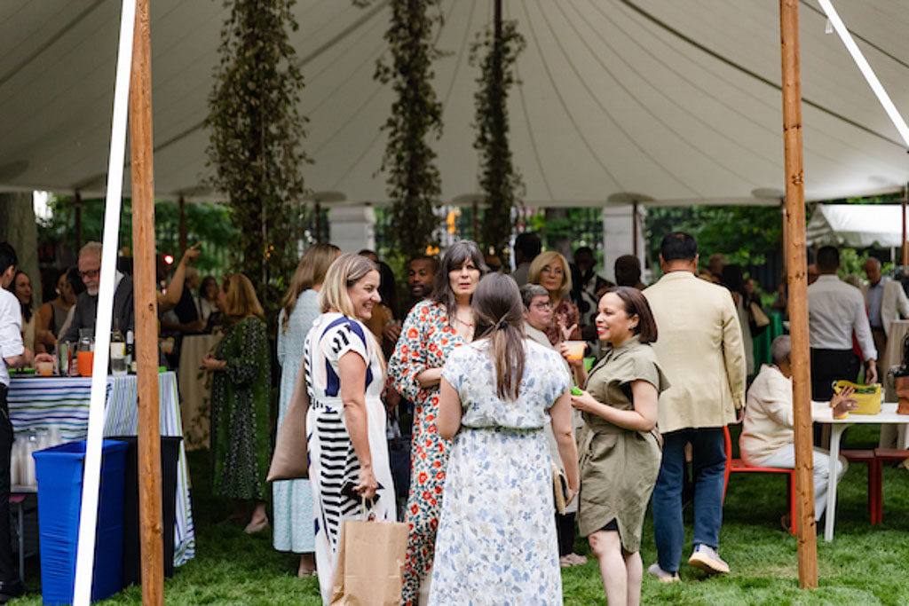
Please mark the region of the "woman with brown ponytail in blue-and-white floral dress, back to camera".
[[544, 427], [552, 422], [570, 500], [571, 378], [557, 353], [524, 339], [510, 276], [485, 276], [471, 306], [476, 337], [448, 357], [439, 392], [436, 426], [454, 444], [429, 603], [561, 604]]

